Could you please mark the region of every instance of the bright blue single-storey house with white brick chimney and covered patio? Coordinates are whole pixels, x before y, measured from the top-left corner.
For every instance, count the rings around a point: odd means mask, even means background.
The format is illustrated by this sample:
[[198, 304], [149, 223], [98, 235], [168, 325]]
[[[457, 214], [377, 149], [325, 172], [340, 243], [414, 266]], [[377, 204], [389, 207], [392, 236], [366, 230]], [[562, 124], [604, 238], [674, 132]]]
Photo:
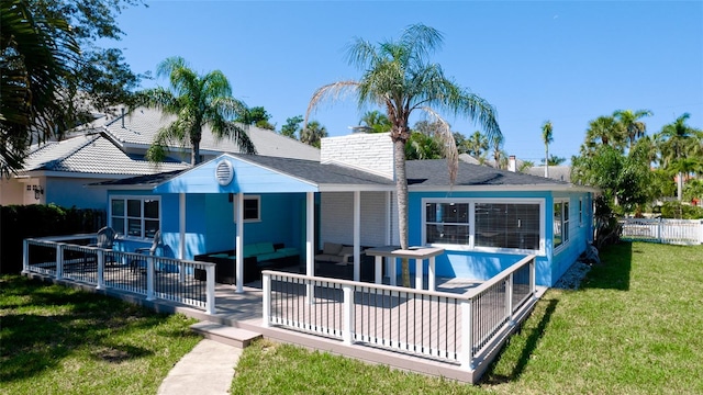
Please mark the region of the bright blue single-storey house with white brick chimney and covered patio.
[[[398, 245], [392, 153], [388, 134], [357, 133], [324, 138], [320, 160], [225, 154], [92, 188], [108, 191], [126, 250], [156, 229], [181, 259], [281, 242], [302, 251], [310, 272], [324, 241]], [[437, 275], [488, 280], [534, 253], [536, 282], [550, 286], [592, 239], [594, 189], [466, 162], [450, 184], [445, 160], [406, 165], [410, 244], [445, 249]]]

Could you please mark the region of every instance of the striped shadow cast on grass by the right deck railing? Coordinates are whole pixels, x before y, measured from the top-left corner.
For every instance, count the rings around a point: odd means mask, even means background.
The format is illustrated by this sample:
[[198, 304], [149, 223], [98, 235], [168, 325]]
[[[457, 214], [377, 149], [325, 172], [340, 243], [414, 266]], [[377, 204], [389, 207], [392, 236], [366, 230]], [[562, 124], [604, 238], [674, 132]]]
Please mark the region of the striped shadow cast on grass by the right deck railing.
[[[539, 323], [532, 328], [521, 327], [518, 329], [518, 332], [514, 334], [513, 337], [511, 337], [511, 340], [514, 339], [515, 336], [526, 337], [526, 339], [525, 339], [525, 345], [523, 346], [520, 352], [520, 357], [517, 357], [515, 364], [511, 369], [510, 374], [493, 373], [498, 363], [504, 358], [504, 357], [500, 357], [491, 363], [491, 366], [481, 379], [480, 384], [486, 384], [486, 385], [503, 384], [503, 383], [515, 381], [523, 374], [525, 368], [527, 366], [527, 363], [529, 362], [529, 358], [532, 357], [535, 349], [537, 348], [537, 343], [539, 342], [539, 339], [542, 339], [542, 336], [545, 332], [545, 329], [547, 329], [547, 325], [549, 325], [549, 321], [551, 320], [551, 316], [554, 315], [554, 312], [557, 309], [557, 303], [558, 301], [554, 298], [546, 301], [546, 307], [544, 307], [544, 313], [540, 313], [542, 317], [539, 319]], [[533, 312], [533, 315], [534, 314], [536, 314], [536, 312]], [[521, 325], [524, 325], [524, 323]], [[505, 354], [505, 350], [507, 347], [510, 347], [511, 340], [509, 340], [503, 346], [503, 349], [501, 350], [500, 356]]]

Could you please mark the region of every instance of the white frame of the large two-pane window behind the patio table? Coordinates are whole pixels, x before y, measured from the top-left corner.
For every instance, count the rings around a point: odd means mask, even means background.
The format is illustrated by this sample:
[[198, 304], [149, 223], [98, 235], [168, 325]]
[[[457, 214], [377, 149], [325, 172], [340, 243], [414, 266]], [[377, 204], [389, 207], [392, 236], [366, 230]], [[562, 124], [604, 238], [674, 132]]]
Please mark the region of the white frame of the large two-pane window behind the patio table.
[[[426, 211], [425, 207], [428, 203], [468, 203], [469, 204], [469, 244], [468, 245], [454, 245], [454, 244], [437, 244], [427, 242], [426, 235]], [[478, 247], [476, 241], [476, 204], [481, 203], [494, 203], [494, 204], [538, 204], [539, 205], [539, 249], [516, 249], [516, 248], [500, 248], [500, 247]], [[545, 255], [545, 213], [546, 201], [540, 198], [423, 198], [421, 199], [422, 213], [421, 213], [421, 240], [424, 246], [440, 247], [447, 251], [480, 251], [480, 252], [500, 252], [500, 253], [535, 253]]]

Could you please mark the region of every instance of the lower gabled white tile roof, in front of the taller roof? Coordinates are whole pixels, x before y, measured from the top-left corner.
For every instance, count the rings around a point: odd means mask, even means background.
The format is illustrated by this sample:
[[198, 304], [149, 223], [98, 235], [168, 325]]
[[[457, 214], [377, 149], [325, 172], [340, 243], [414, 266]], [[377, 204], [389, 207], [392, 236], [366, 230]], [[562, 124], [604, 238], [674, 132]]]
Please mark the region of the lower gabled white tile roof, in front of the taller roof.
[[178, 161], [154, 165], [142, 156], [125, 154], [102, 134], [85, 134], [35, 147], [26, 158], [23, 171], [133, 176], [189, 167]]

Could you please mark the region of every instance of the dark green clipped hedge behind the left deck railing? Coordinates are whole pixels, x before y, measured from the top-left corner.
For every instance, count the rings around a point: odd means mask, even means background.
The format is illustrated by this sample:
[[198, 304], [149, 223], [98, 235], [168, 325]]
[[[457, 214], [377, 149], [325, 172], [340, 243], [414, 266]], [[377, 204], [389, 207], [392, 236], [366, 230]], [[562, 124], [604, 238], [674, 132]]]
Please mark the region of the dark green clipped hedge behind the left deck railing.
[[103, 210], [54, 204], [0, 206], [0, 273], [22, 271], [22, 240], [27, 237], [94, 233], [105, 224]]

